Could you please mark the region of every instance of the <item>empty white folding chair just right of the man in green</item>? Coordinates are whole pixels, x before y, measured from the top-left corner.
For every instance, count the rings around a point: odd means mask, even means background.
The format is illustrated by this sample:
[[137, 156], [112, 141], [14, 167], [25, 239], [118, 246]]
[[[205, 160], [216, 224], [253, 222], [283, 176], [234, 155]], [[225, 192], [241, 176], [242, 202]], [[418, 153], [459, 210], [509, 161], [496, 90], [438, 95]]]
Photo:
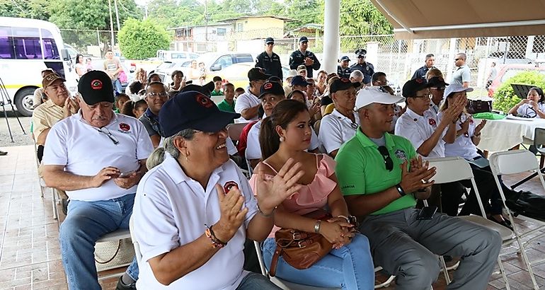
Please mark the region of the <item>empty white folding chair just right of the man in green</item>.
[[[428, 160], [430, 162], [430, 167], [436, 168], [436, 174], [433, 176], [432, 180], [435, 180], [435, 184], [442, 184], [447, 182], [454, 182], [459, 180], [471, 180], [471, 186], [474, 188], [478, 206], [481, 209], [482, 216], [459, 216], [458, 219], [465, 219], [467, 221], [472, 221], [481, 226], [486, 226], [500, 233], [502, 240], [510, 240], [512, 237], [512, 231], [505, 226], [496, 224], [493, 221], [490, 221], [486, 218], [486, 212], [484, 211], [483, 202], [481, 201], [481, 195], [478, 193], [478, 188], [475, 182], [473, 171], [469, 163], [460, 157], [447, 157], [447, 158], [433, 158]], [[428, 202], [425, 202], [427, 204]], [[447, 267], [444, 263], [443, 257], [440, 257], [445, 279], [447, 284], [450, 282], [450, 277], [447, 273]], [[509, 282], [507, 282], [507, 276], [505, 276], [505, 270], [503, 269], [503, 264], [498, 257], [498, 266], [500, 267], [500, 272], [505, 282], [505, 288], [510, 289]]]

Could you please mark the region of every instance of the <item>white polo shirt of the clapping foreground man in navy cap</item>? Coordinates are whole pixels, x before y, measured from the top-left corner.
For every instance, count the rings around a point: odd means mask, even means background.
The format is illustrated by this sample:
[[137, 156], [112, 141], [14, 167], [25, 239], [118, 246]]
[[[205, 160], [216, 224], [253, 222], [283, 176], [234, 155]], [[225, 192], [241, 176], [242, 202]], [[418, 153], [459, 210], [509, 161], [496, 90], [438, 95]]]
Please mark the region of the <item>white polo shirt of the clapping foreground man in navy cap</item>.
[[[147, 261], [193, 242], [205, 233], [205, 224], [211, 226], [219, 221], [221, 212], [216, 184], [224, 189], [239, 186], [245, 199], [243, 207], [248, 208], [243, 226], [205, 265], [169, 286], [160, 284]], [[234, 161], [229, 160], [216, 168], [204, 190], [199, 182], [185, 175], [170, 154], [165, 153], [163, 163], [144, 175], [134, 199], [134, 234], [142, 252], [137, 288], [236, 289], [247, 274], [243, 271], [242, 251], [246, 228], [256, 212], [257, 203], [248, 180]]]

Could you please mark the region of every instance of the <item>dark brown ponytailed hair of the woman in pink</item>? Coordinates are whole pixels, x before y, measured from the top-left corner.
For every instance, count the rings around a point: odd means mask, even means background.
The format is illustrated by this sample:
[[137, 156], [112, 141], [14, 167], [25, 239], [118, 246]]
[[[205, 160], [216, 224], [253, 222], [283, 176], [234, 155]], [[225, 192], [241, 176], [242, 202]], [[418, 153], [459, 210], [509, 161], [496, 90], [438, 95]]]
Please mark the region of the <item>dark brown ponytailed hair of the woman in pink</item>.
[[300, 112], [308, 112], [306, 104], [298, 100], [282, 100], [272, 109], [270, 116], [263, 119], [259, 130], [259, 145], [261, 147], [261, 158], [269, 158], [280, 148], [280, 136], [276, 127], [286, 129]]

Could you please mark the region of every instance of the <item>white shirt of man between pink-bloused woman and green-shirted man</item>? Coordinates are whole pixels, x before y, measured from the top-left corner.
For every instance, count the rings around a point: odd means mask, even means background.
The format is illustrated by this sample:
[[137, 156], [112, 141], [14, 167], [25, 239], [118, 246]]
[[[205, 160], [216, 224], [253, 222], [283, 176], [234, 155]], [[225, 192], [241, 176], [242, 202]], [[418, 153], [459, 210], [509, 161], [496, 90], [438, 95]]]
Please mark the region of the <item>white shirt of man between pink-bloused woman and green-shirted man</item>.
[[340, 148], [346, 141], [354, 137], [360, 126], [360, 117], [354, 113], [356, 122], [334, 109], [331, 114], [322, 118], [318, 139], [327, 153]]

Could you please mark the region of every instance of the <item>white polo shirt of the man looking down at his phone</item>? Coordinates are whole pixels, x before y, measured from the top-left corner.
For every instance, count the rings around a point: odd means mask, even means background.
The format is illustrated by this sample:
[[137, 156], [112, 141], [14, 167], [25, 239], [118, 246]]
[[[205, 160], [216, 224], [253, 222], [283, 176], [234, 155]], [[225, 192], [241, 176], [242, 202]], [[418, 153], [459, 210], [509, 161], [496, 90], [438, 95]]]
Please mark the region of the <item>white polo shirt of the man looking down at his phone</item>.
[[[113, 166], [121, 172], [137, 170], [139, 160], [149, 157], [154, 147], [146, 128], [139, 120], [113, 113], [110, 124], [106, 125], [115, 145], [107, 134], [88, 124], [81, 117], [81, 110], [57, 122], [47, 134], [42, 163], [62, 165], [64, 170], [75, 175], [96, 175], [103, 168]], [[136, 185], [125, 190], [113, 180], [97, 188], [67, 190], [70, 199], [93, 202], [113, 199], [136, 192]]]

